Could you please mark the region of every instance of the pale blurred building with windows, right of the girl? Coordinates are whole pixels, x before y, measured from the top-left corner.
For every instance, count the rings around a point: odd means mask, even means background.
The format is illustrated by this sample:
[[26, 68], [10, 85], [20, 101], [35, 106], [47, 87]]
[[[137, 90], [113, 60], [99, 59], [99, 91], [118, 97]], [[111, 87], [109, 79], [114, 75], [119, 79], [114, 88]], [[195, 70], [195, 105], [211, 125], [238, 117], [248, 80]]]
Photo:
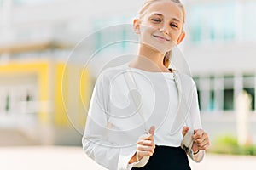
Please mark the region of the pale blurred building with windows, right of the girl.
[[236, 135], [236, 100], [244, 90], [251, 96], [248, 140], [255, 143], [256, 2], [190, 0], [186, 5], [184, 53], [197, 84], [203, 125], [212, 138]]

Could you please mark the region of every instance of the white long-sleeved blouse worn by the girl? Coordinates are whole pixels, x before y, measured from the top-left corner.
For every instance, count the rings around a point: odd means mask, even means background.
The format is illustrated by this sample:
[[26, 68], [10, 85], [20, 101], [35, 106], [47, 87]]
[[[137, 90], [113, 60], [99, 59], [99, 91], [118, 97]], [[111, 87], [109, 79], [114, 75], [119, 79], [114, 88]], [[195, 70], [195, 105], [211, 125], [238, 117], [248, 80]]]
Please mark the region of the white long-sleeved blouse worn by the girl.
[[[137, 89], [127, 86], [124, 75], [128, 71], [132, 73]], [[134, 96], [138, 99], [137, 105]], [[132, 167], [129, 161], [136, 152], [137, 139], [145, 129], [155, 127], [156, 145], [178, 147], [183, 140], [185, 125], [190, 129], [201, 128], [192, 78], [180, 73], [143, 71], [131, 68], [127, 63], [108, 68], [97, 78], [83, 148], [87, 156], [103, 167], [127, 170]]]

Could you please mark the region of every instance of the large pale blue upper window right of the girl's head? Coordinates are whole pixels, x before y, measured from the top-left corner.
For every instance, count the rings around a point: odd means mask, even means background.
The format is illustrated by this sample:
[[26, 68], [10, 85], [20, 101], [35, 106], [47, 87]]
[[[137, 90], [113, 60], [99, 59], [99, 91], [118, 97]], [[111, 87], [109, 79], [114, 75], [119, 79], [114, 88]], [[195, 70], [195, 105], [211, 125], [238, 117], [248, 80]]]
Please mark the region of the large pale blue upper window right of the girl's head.
[[195, 3], [189, 6], [190, 42], [255, 40], [255, 8], [253, 1]]

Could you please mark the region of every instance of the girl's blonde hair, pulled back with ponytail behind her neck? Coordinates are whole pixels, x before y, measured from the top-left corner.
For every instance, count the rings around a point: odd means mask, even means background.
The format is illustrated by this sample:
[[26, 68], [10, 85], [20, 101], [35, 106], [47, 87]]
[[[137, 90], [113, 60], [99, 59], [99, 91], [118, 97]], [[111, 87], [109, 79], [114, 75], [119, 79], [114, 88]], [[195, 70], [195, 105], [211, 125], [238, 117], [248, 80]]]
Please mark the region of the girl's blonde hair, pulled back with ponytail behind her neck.
[[[143, 16], [145, 15], [148, 7], [154, 3], [154, 2], [158, 2], [158, 1], [162, 1], [162, 0], [146, 0], [146, 2], [143, 4], [143, 7], [141, 8], [141, 10], [139, 11], [139, 16], [138, 19], [141, 20], [143, 18]], [[183, 6], [183, 4], [179, 1], [179, 0], [170, 0], [173, 3], [177, 3], [177, 5], [182, 8], [183, 11], [183, 23], [185, 23], [185, 8]], [[171, 62], [171, 56], [172, 56], [172, 51], [168, 51], [165, 54], [165, 57], [163, 59], [163, 64], [168, 68]]]

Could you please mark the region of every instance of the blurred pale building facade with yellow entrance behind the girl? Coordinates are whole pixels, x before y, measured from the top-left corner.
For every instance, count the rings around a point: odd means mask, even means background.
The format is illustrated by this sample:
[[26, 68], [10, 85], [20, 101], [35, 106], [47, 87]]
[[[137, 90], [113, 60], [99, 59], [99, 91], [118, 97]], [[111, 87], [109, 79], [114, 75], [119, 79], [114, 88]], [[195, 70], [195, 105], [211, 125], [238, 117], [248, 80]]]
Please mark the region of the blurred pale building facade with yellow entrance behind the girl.
[[[249, 127], [256, 129], [256, 23], [253, 20], [256, 3], [251, 0], [184, 0], [183, 3], [187, 9], [184, 28], [187, 34], [180, 48], [197, 84], [204, 127], [212, 136], [223, 129], [236, 134], [236, 99], [246, 91], [251, 97]], [[83, 102], [79, 97], [66, 97], [67, 112], [78, 113], [70, 118], [70, 114], [61, 112], [65, 109], [61, 96], [82, 93], [88, 101], [91, 94], [88, 84], [95, 82], [102, 69], [134, 57], [137, 35], [132, 32], [131, 23], [142, 4], [143, 0], [129, 3], [0, 0], [0, 115], [9, 119], [11, 125], [15, 125], [11, 112], [36, 112], [32, 122], [48, 120], [53, 127], [71, 119], [79, 124], [75, 126], [77, 132], [83, 133], [86, 117]], [[90, 74], [83, 79], [82, 91], [68, 88], [63, 94], [59, 69], [70, 60], [76, 65], [69, 69], [76, 72], [74, 77], [69, 74], [72, 82], [85, 74], [87, 61], [92, 66]], [[75, 84], [79, 87], [80, 82]], [[48, 113], [32, 105], [34, 100], [40, 101], [41, 106], [48, 105], [43, 107], [49, 108]], [[1, 122], [2, 127], [10, 126], [3, 122], [6, 121]], [[72, 127], [72, 123], [62, 124]], [[252, 139], [256, 141], [256, 136], [252, 135]]]

